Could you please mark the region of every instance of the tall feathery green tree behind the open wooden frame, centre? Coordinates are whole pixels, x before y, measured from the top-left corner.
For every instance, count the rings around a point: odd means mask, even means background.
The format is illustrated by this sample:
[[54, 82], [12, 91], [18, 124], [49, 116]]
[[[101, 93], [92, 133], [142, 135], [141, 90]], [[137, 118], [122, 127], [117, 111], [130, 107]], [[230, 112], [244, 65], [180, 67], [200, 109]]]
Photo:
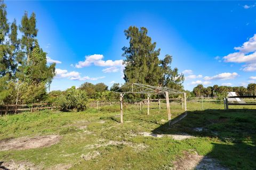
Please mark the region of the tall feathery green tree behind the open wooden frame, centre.
[[183, 74], [178, 69], [171, 69], [172, 56], [166, 55], [164, 60], [159, 60], [161, 49], [156, 49], [156, 43], [151, 42], [145, 27], [129, 27], [124, 31], [129, 39], [129, 47], [123, 47], [124, 80], [138, 82], [151, 86], [167, 86], [182, 89]]

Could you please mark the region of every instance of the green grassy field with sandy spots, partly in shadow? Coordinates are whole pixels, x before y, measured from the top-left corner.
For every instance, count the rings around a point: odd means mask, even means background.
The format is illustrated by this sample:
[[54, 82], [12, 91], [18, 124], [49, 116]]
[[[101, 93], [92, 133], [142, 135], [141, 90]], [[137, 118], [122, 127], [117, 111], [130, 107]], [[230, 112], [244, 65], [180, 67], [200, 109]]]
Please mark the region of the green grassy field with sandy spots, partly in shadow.
[[[89, 108], [85, 112], [41, 111], [0, 118], [0, 139], [60, 135], [55, 145], [26, 150], [2, 150], [0, 161], [25, 162], [35, 169], [172, 169], [187, 152], [211, 157], [230, 169], [256, 169], [255, 111], [223, 111], [223, 104], [188, 103], [188, 115], [167, 126], [165, 105], [124, 106], [124, 124], [119, 106]], [[211, 108], [211, 109], [210, 109]], [[251, 107], [252, 108], [252, 107]], [[171, 104], [172, 118], [183, 111]], [[203, 128], [195, 131], [195, 128]], [[145, 137], [145, 132], [166, 134]], [[167, 134], [194, 138], [174, 140]], [[64, 168], [62, 168], [64, 169]]]

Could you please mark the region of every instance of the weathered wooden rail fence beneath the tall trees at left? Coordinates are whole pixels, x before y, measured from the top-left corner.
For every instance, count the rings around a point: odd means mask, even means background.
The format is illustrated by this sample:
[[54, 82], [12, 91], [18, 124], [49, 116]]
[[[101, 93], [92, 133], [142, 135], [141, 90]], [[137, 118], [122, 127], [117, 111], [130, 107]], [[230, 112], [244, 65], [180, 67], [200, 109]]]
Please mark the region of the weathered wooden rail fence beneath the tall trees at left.
[[19, 112], [35, 112], [37, 110], [42, 109], [53, 109], [56, 108], [56, 106], [51, 106], [47, 103], [38, 103], [38, 104], [31, 104], [31, 105], [0, 105], [0, 115], [7, 115], [7, 114], [13, 114], [13, 113], [19, 113]]

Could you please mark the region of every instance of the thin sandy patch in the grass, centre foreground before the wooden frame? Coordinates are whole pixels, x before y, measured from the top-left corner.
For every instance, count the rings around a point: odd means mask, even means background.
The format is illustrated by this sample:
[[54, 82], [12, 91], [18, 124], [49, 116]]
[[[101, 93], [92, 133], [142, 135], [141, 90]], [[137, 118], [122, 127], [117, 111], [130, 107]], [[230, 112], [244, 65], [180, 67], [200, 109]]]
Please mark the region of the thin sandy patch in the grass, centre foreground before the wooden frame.
[[108, 142], [104, 142], [104, 141], [101, 140], [99, 142], [100, 143], [98, 143], [98, 144], [87, 145], [85, 147], [93, 149], [93, 148], [106, 147], [106, 146], [109, 146], [109, 145], [114, 145], [114, 146], [126, 145], [126, 146], [129, 146], [129, 147], [132, 147], [134, 150], [137, 150], [137, 151], [144, 150], [144, 149], [146, 149], [148, 147], [146, 145], [143, 145], [142, 143], [133, 143], [133, 142], [127, 142], [127, 141], [112, 141], [112, 140], [110, 140]]

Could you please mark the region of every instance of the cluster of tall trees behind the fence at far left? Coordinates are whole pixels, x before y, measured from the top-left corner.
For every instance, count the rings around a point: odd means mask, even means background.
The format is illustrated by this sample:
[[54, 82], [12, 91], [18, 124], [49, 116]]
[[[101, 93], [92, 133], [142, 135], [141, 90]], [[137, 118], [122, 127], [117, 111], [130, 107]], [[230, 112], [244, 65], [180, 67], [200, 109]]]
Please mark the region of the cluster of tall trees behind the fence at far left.
[[[18, 38], [18, 30], [21, 38]], [[46, 53], [36, 39], [35, 13], [25, 11], [21, 23], [7, 20], [0, 1], [0, 102], [36, 103], [47, 97], [55, 75], [55, 63], [47, 65]]]

